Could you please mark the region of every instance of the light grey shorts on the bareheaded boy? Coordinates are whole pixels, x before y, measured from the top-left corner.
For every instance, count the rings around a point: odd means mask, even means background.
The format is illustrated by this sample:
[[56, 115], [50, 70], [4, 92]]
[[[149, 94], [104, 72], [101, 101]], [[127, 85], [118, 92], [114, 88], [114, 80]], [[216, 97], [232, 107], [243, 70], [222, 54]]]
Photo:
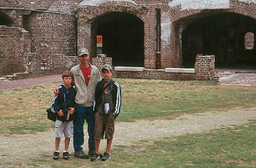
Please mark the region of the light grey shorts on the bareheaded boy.
[[56, 120], [55, 137], [61, 138], [63, 132], [65, 137], [73, 137], [73, 121], [60, 121], [58, 119]]

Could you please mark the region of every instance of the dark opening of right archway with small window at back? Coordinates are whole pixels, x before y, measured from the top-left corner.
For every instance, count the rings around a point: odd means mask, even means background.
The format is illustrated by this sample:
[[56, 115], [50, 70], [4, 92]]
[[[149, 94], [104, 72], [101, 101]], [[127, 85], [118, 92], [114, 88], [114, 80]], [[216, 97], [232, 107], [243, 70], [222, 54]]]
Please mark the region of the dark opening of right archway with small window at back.
[[203, 54], [215, 55], [217, 68], [256, 69], [256, 47], [245, 46], [247, 32], [255, 38], [256, 20], [222, 12], [189, 21], [182, 34], [183, 67], [194, 67], [195, 56]]

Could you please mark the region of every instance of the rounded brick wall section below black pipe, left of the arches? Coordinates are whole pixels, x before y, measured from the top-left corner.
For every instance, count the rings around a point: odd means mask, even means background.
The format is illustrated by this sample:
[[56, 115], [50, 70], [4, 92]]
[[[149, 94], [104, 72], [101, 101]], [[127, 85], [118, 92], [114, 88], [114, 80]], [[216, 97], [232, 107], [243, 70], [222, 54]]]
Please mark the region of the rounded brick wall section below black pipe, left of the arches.
[[45, 59], [47, 68], [54, 69], [56, 73], [62, 72], [67, 68], [64, 64], [66, 60], [63, 58], [76, 57], [74, 21], [73, 15], [47, 13], [26, 15], [25, 27], [31, 34], [31, 51], [36, 54], [37, 68], [34, 68], [33, 73], [42, 73], [41, 65]]

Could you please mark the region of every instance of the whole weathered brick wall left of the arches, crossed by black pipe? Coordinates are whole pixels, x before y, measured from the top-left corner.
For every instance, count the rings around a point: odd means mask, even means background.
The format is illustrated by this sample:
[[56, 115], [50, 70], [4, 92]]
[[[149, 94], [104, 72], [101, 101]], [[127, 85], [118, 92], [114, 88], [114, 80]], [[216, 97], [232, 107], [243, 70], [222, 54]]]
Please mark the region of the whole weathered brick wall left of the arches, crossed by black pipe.
[[[78, 64], [75, 12], [79, 3], [79, 0], [65, 2], [61, 0], [1, 1], [1, 8], [6, 9], [0, 8], [0, 13], [6, 14], [13, 20], [12, 28], [26, 30], [29, 42], [25, 43], [24, 38], [20, 35], [15, 35], [15, 39], [11, 40], [15, 32], [11, 31], [11, 28], [5, 31], [4, 37], [10, 40], [4, 41], [5, 38], [2, 36], [0, 40], [5, 44], [2, 46], [20, 45], [26, 50], [21, 47], [20, 49], [18, 49], [19, 47], [4, 49], [1, 46], [1, 49], [5, 51], [1, 53], [1, 62], [13, 64], [12, 60], [6, 58], [15, 53], [16, 57], [25, 60], [26, 65], [22, 66], [23, 68], [16, 68], [14, 71], [2, 71], [0, 74], [29, 72], [31, 75], [45, 75], [60, 73], [64, 69]], [[1, 34], [3, 33], [1, 32]], [[14, 42], [15, 44], [13, 44]], [[3, 66], [0, 68], [6, 69]]]

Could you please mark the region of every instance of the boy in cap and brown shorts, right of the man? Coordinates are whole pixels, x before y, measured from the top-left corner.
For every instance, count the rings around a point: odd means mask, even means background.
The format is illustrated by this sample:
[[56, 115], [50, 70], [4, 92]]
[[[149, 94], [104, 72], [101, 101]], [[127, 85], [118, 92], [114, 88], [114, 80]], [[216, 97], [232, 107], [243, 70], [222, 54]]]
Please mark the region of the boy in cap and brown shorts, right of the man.
[[95, 148], [96, 153], [90, 158], [90, 161], [96, 161], [101, 158], [99, 152], [100, 142], [105, 133], [107, 139], [107, 148], [102, 156], [102, 161], [111, 159], [110, 148], [113, 140], [114, 119], [119, 115], [121, 106], [121, 88], [118, 82], [113, 81], [112, 67], [104, 65], [102, 67], [102, 81], [96, 85], [95, 93]]

